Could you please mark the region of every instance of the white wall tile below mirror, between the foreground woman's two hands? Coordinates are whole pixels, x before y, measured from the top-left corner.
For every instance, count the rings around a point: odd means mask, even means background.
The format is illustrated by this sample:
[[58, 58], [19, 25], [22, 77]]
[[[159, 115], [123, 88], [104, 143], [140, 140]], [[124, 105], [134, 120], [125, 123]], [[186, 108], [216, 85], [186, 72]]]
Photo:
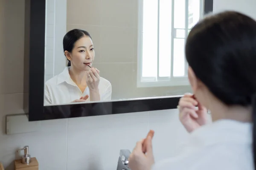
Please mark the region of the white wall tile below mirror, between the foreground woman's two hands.
[[189, 134], [179, 121], [177, 109], [150, 111], [149, 129], [155, 131], [153, 139], [155, 161], [176, 155], [180, 150], [180, 144]]

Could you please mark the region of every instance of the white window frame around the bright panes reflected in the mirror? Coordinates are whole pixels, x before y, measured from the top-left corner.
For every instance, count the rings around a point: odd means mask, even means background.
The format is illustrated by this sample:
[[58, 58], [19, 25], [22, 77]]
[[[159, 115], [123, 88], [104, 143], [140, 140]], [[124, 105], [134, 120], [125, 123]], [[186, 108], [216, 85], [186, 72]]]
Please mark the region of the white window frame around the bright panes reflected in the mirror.
[[[206, 2], [207, 1], [207, 2]], [[200, 20], [204, 17], [204, 14], [206, 13], [206, 5], [208, 3], [212, 2], [212, 0], [200, 0]], [[189, 8], [188, 3], [189, 0], [185, 0], [185, 6], [187, 8], [185, 9], [185, 16], [187, 16], [187, 20], [185, 21], [185, 28], [174, 28], [174, 2], [175, 0], [172, 0], [172, 40], [171, 40], [171, 77], [159, 77], [159, 47], [158, 47], [158, 56], [157, 56], [157, 77], [142, 77], [142, 65], [143, 65], [143, 0], [138, 0], [138, 32], [137, 32], [137, 87], [138, 88], [148, 88], [148, 87], [166, 87], [166, 86], [184, 86], [189, 85], [189, 80], [187, 78], [187, 69], [188, 64], [185, 59], [185, 76], [183, 77], [173, 77], [173, 46], [174, 46], [174, 39], [177, 39], [176, 37], [176, 29], [185, 29], [185, 38], [184, 41], [186, 42], [186, 37], [188, 35], [188, 31], [190, 30], [188, 27], [189, 25]], [[160, 3], [160, 0], [158, 0], [158, 4]], [[159, 5], [158, 5], [158, 37], [159, 37]], [[158, 38], [158, 44], [159, 44], [159, 38]]]

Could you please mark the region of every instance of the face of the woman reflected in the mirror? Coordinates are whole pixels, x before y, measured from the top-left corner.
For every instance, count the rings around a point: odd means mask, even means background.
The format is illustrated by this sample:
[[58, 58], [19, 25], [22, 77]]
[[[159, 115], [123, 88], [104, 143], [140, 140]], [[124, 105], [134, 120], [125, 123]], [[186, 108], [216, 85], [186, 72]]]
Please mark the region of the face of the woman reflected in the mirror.
[[[90, 37], [84, 36], [76, 41], [72, 52], [69, 53], [68, 59], [70, 59], [73, 67], [79, 70], [89, 71], [94, 56], [93, 41]], [[88, 65], [90, 65], [90, 67]]]

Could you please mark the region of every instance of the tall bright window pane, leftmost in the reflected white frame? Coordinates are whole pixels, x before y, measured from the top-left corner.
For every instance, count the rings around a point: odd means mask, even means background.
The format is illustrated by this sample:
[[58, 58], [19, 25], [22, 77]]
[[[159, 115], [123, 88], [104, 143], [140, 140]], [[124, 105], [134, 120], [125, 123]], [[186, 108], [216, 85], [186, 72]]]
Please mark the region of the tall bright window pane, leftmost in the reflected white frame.
[[157, 77], [157, 25], [158, 0], [143, 0], [143, 77]]

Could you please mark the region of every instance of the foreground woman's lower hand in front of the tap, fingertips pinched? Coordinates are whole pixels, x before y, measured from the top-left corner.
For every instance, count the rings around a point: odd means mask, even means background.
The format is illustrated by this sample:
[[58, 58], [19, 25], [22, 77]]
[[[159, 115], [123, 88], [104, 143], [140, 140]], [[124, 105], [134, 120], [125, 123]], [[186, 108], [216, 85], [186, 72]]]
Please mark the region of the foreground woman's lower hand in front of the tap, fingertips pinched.
[[[143, 153], [143, 143], [145, 141], [145, 153]], [[154, 164], [154, 156], [152, 150], [152, 138], [147, 136], [146, 139], [137, 142], [136, 147], [131, 153], [128, 166], [131, 170], [151, 170], [152, 165]]]

